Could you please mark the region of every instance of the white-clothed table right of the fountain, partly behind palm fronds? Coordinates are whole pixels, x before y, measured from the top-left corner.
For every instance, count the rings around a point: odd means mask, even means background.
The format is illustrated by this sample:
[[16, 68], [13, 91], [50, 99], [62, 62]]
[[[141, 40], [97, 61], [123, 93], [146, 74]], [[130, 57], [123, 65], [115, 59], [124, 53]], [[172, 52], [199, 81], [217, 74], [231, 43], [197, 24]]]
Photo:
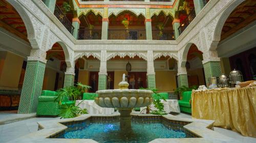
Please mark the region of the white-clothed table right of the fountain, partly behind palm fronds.
[[[179, 103], [178, 103], [178, 100], [175, 100], [175, 99], [167, 99], [166, 101], [163, 101], [161, 99], [161, 102], [163, 103], [164, 105], [164, 111], [166, 113], [169, 113], [169, 112], [180, 112], [180, 106], [179, 106]], [[156, 110], [156, 108], [154, 107], [155, 105], [154, 104], [151, 104], [151, 109], [152, 110]], [[142, 111], [143, 109], [145, 109], [146, 107], [141, 107], [140, 108], [140, 111]], [[146, 113], [146, 110], [143, 111], [143, 113]]]

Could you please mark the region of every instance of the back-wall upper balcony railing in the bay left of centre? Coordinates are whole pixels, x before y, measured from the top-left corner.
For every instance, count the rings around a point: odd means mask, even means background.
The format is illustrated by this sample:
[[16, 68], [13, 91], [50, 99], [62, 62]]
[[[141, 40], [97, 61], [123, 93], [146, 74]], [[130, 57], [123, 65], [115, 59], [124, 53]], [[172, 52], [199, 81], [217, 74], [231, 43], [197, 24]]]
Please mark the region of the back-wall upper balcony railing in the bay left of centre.
[[100, 40], [101, 39], [101, 30], [85, 30], [80, 28], [78, 30], [78, 40]]

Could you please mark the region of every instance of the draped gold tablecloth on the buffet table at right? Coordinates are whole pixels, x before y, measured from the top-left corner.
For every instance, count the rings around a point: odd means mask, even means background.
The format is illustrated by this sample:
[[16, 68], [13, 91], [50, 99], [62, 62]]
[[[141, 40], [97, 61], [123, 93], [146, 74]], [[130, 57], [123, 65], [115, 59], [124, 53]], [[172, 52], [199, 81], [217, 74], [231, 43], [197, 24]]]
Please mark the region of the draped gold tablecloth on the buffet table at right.
[[193, 92], [192, 117], [256, 137], [256, 87]]

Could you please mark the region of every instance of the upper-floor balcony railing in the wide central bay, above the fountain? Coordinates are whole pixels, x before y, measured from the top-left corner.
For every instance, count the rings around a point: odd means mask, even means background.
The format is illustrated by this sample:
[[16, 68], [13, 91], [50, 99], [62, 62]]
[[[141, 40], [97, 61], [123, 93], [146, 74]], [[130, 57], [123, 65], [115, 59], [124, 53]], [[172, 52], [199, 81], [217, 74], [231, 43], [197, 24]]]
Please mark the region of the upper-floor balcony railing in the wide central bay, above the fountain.
[[145, 40], [145, 30], [109, 30], [109, 40]]

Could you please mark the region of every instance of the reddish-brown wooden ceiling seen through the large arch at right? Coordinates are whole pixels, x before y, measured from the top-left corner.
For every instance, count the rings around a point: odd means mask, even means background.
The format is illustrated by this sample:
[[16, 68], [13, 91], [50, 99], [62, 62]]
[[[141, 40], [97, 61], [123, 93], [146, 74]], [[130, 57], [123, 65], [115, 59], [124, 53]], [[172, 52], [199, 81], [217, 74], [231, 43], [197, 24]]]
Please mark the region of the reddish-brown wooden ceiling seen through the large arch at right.
[[222, 28], [221, 40], [236, 33], [254, 20], [256, 20], [256, 1], [247, 0], [234, 9], [227, 18]]

